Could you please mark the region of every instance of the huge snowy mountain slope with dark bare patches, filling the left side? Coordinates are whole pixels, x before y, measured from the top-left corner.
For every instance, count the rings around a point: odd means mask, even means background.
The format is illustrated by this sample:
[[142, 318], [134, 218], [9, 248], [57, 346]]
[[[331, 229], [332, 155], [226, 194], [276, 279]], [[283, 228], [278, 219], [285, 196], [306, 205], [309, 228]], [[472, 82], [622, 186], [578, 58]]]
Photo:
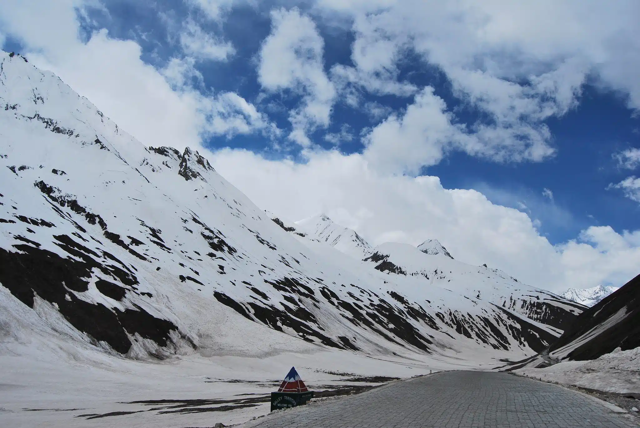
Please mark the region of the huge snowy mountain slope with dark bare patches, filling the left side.
[[484, 291], [465, 299], [346, 260], [283, 230], [198, 152], [143, 147], [58, 77], [4, 52], [0, 105], [1, 311], [33, 308], [72, 342], [128, 358], [248, 355], [280, 331], [291, 346], [517, 360], [580, 312], [562, 312], [559, 297], [540, 313], [503, 292], [503, 305]]

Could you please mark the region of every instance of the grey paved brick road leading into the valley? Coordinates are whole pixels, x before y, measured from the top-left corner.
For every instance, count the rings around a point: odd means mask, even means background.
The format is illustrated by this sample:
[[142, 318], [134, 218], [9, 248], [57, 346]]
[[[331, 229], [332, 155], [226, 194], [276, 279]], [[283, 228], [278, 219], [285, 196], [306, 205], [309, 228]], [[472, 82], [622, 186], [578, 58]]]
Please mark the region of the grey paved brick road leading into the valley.
[[272, 427], [635, 427], [580, 393], [491, 372], [442, 372], [268, 416]]

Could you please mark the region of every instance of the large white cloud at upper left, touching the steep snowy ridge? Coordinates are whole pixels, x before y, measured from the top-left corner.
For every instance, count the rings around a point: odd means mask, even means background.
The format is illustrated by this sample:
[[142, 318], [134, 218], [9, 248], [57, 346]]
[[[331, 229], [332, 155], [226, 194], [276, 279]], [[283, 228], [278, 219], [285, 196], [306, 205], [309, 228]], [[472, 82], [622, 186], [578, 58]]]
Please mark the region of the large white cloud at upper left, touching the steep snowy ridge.
[[0, 31], [21, 40], [36, 67], [56, 73], [145, 145], [197, 147], [211, 134], [273, 131], [237, 95], [202, 91], [202, 75], [189, 58], [157, 70], [142, 61], [140, 45], [115, 40], [106, 29], [82, 42], [77, 11], [85, 4], [93, 3], [0, 2]]

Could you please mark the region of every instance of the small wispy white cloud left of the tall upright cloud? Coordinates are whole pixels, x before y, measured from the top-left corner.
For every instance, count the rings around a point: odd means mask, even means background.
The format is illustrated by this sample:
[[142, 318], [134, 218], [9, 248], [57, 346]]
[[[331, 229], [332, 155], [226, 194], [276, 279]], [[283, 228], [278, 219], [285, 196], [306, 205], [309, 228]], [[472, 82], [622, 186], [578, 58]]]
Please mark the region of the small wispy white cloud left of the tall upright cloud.
[[192, 19], [184, 23], [179, 37], [184, 52], [198, 59], [226, 61], [236, 53], [230, 42], [207, 33]]

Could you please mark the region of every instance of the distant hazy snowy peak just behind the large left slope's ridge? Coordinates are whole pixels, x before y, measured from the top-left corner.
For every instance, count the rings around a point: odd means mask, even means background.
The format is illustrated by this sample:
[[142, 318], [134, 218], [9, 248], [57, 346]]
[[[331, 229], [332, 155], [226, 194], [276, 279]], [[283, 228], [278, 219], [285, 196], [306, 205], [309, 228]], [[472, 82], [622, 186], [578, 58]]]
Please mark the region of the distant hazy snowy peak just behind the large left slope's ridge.
[[362, 260], [372, 253], [371, 245], [358, 235], [358, 232], [334, 223], [326, 214], [296, 221], [296, 225], [300, 226], [310, 237], [326, 242], [336, 250], [358, 260]]

